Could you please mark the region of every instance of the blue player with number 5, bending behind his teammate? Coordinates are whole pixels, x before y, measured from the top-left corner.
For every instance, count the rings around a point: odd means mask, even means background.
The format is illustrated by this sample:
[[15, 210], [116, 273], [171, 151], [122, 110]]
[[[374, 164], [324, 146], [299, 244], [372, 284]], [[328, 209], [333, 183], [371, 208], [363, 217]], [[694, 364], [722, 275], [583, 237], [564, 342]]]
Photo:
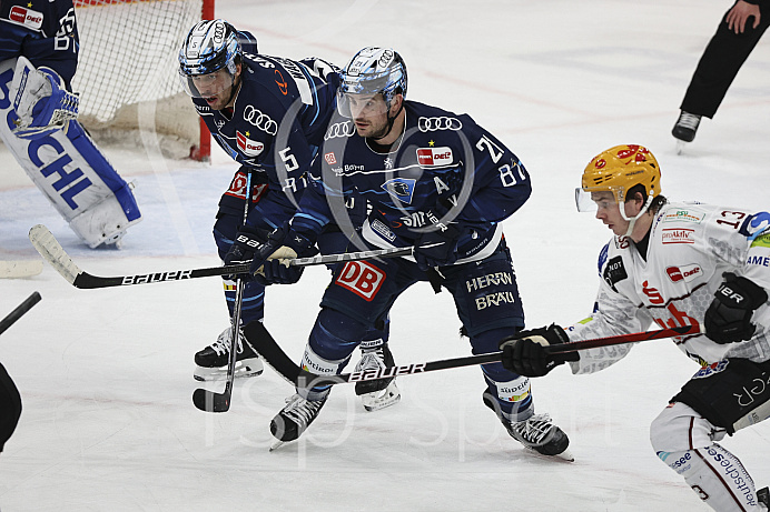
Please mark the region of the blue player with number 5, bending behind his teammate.
[[[219, 201], [214, 225], [219, 254], [227, 264], [250, 260], [253, 245], [265, 241], [269, 232], [295, 213], [307, 185], [310, 162], [335, 111], [339, 77], [332, 64], [320, 59], [294, 61], [259, 54], [253, 34], [238, 31], [224, 20], [206, 20], [192, 27], [179, 52], [179, 63], [185, 89], [214, 139], [241, 164]], [[249, 173], [253, 190], [244, 224]], [[363, 214], [363, 202], [353, 201], [353, 207], [357, 214]], [[347, 229], [353, 229], [349, 222]], [[319, 240], [323, 252], [344, 252], [346, 247], [347, 237], [336, 224]], [[246, 282], [241, 325], [261, 321], [264, 284], [256, 280]], [[225, 295], [233, 318], [233, 277], [225, 279]], [[386, 345], [387, 325], [378, 327], [382, 329], [364, 335], [369, 350], [362, 364], [376, 359], [393, 365]], [[196, 354], [196, 379], [216, 379], [226, 372], [230, 342], [231, 330], [226, 329], [215, 343]], [[236, 375], [258, 375], [261, 369], [254, 349], [239, 339]], [[358, 391], [368, 395], [381, 390]], [[382, 409], [399, 398], [395, 384], [379, 394], [368, 396], [372, 403], [365, 399], [364, 405], [368, 410]]]

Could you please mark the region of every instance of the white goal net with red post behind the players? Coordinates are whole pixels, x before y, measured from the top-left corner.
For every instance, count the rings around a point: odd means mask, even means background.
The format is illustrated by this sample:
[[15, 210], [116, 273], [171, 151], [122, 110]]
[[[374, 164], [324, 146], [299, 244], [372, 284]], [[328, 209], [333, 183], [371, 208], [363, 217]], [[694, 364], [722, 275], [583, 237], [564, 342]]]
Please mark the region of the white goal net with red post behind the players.
[[[208, 132], [177, 78], [187, 31], [214, 0], [75, 0], [80, 54], [72, 89], [97, 141], [152, 130], [170, 157], [208, 157]], [[203, 130], [203, 133], [201, 133]], [[203, 143], [201, 143], [203, 141]]]

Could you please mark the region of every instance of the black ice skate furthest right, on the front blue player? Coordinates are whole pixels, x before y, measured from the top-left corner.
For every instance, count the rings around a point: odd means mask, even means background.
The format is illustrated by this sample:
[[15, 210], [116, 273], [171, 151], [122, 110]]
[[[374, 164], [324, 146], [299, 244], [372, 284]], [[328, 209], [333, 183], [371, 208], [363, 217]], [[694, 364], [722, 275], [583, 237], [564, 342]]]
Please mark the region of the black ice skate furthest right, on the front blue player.
[[511, 423], [502, 416], [497, 400], [491, 393], [485, 391], [483, 398], [484, 404], [497, 414], [509, 434], [525, 448], [541, 455], [559, 458], [567, 462], [575, 460], [572, 452], [567, 450], [570, 439], [562, 429], [553, 424], [550, 415], [535, 414], [524, 421]]

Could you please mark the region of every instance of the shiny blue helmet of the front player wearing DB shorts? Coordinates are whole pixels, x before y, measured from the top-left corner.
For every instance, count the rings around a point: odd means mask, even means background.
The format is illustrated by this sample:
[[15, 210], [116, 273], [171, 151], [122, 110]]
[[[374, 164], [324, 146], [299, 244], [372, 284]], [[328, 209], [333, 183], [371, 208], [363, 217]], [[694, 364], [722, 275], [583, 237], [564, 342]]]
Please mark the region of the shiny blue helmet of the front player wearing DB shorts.
[[342, 84], [337, 90], [337, 108], [347, 118], [351, 117], [351, 106], [346, 94], [382, 93], [388, 110], [396, 94], [406, 97], [406, 64], [392, 48], [359, 50], [339, 74]]

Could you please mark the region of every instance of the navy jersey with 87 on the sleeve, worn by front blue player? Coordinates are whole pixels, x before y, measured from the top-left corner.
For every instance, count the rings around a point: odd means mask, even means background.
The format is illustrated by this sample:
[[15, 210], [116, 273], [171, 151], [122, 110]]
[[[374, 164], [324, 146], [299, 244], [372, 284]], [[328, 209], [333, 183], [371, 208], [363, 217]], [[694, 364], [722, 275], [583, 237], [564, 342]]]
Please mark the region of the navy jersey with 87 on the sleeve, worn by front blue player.
[[413, 245], [421, 232], [452, 221], [472, 228], [460, 240], [457, 262], [486, 257], [502, 235], [498, 223], [529, 199], [529, 173], [467, 114], [404, 106], [404, 134], [387, 153], [357, 135], [352, 120], [335, 116], [293, 228], [317, 233], [333, 220], [335, 198], [362, 194], [373, 207], [363, 229], [369, 243]]

